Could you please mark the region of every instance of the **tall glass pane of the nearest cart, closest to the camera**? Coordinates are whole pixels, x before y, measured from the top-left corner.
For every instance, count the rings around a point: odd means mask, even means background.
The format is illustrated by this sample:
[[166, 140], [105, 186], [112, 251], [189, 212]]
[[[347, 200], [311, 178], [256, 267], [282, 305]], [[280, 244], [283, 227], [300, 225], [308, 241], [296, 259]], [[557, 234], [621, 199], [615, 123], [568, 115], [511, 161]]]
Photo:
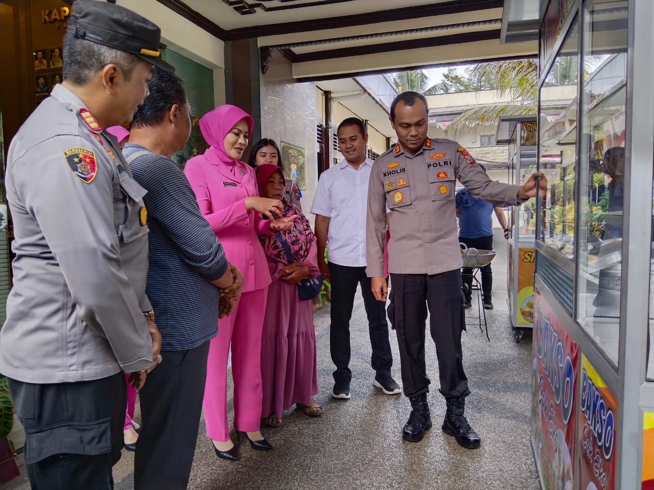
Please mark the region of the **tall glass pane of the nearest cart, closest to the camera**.
[[626, 164], [627, 1], [598, 0], [584, 5], [577, 320], [617, 366]]

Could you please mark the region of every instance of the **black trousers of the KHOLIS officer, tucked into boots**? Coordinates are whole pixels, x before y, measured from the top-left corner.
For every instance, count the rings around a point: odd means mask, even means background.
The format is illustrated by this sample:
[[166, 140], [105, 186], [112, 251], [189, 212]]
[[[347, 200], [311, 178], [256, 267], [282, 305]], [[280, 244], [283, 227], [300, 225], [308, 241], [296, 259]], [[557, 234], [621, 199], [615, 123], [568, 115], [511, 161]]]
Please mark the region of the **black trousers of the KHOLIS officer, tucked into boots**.
[[398, 335], [402, 385], [411, 398], [429, 391], [424, 361], [424, 331], [427, 307], [429, 329], [436, 344], [440, 392], [445, 397], [470, 394], [463, 370], [461, 332], [466, 328], [461, 291], [461, 273], [390, 274], [388, 318]]

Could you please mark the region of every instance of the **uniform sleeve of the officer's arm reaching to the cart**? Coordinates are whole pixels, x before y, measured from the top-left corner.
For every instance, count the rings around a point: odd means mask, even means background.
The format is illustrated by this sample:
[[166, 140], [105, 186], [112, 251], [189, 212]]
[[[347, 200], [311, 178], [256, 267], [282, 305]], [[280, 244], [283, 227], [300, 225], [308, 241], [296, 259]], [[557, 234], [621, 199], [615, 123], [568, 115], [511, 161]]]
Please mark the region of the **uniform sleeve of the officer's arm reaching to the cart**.
[[456, 178], [477, 199], [483, 199], [493, 206], [518, 205], [518, 190], [521, 186], [490, 180], [462, 146], [456, 150], [455, 165]]

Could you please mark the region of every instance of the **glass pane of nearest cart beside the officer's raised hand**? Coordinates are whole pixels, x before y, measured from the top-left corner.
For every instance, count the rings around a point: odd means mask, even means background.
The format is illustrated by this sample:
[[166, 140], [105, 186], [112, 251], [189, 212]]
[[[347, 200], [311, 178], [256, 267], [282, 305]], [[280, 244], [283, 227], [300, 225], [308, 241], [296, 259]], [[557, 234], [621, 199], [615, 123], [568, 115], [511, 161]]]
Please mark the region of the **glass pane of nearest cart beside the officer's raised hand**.
[[547, 195], [539, 197], [540, 240], [574, 258], [577, 143], [578, 48], [576, 20], [540, 90], [538, 155], [547, 177]]

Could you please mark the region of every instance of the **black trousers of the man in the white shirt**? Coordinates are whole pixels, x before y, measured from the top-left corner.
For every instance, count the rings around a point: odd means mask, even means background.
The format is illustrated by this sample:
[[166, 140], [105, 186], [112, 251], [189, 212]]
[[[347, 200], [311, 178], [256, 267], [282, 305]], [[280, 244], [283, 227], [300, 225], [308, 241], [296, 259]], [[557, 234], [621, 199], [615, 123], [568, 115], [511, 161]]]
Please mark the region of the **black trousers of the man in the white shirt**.
[[372, 347], [371, 366], [382, 377], [390, 376], [393, 355], [388, 340], [388, 322], [385, 304], [377, 301], [372, 294], [370, 278], [366, 267], [349, 267], [329, 263], [330, 284], [332, 285], [332, 309], [330, 325], [330, 351], [336, 366], [334, 380], [351, 382], [350, 363], [350, 319], [354, 306], [356, 286], [361, 285], [364, 306], [368, 315], [368, 331]]

